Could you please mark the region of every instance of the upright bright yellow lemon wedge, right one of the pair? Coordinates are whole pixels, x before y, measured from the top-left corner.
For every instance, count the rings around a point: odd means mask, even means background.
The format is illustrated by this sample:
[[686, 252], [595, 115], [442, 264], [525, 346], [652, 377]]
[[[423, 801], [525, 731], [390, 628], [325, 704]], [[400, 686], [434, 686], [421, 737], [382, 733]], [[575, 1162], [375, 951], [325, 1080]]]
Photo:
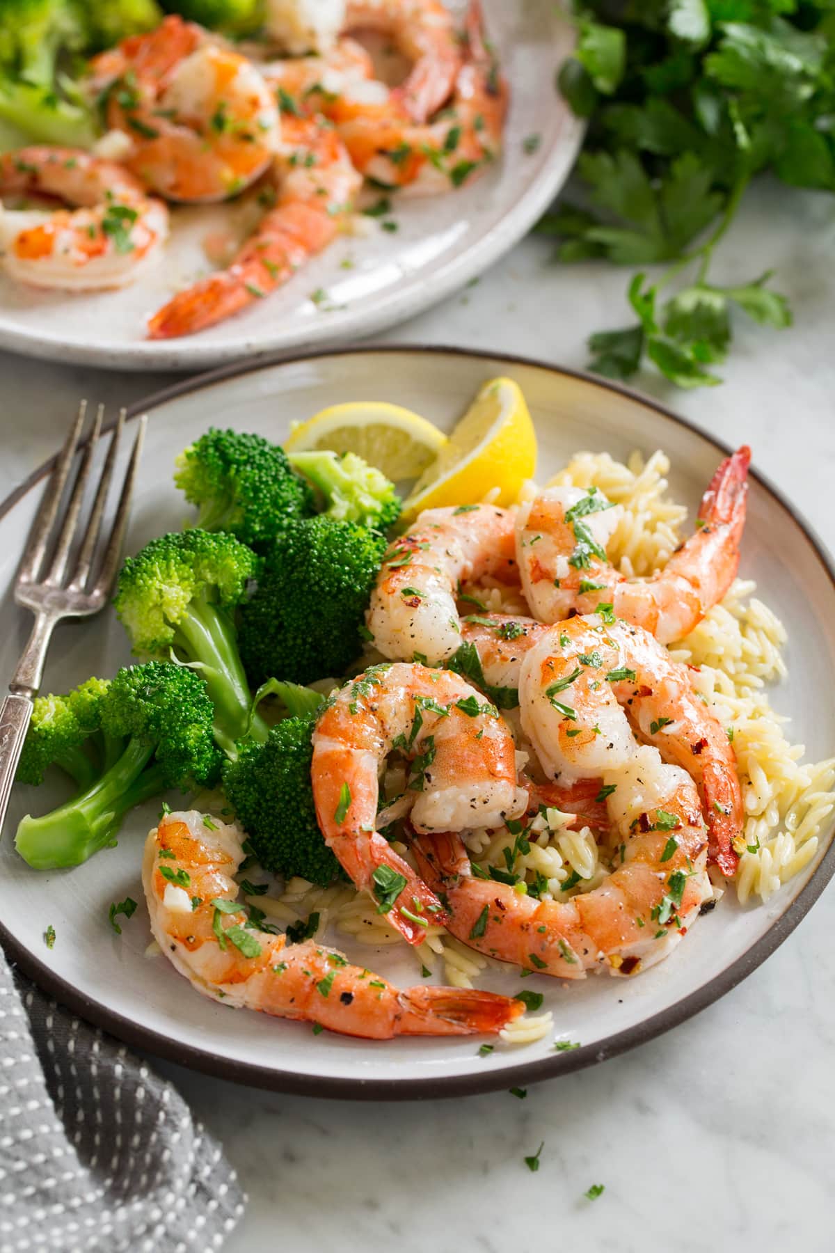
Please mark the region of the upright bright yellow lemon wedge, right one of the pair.
[[437, 460], [403, 502], [408, 521], [423, 509], [471, 505], [498, 487], [497, 505], [512, 505], [536, 474], [536, 432], [525, 396], [512, 378], [479, 390]]

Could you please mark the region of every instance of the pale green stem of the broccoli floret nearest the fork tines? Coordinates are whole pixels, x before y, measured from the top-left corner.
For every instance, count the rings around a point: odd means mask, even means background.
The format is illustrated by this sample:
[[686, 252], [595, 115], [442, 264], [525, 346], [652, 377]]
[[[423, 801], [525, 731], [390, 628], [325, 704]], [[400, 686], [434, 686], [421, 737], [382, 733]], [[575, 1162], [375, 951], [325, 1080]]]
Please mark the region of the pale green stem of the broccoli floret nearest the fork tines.
[[199, 664], [198, 674], [214, 704], [214, 738], [223, 752], [234, 759], [235, 746], [244, 738], [263, 744], [269, 727], [259, 713], [250, 723], [252, 694], [229, 615], [218, 605], [193, 600], [177, 626], [174, 647]]

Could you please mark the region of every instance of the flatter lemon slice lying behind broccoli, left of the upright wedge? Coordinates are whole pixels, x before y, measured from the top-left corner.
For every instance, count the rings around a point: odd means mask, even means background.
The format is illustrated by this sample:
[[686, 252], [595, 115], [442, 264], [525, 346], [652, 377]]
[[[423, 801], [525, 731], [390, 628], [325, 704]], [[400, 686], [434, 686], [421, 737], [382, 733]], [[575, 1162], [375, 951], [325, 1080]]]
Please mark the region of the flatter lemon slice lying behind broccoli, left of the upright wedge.
[[383, 401], [349, 401], [300, 422], [284, 447], [288, 452], [356, 452], [399, 482], [422, 475], [448, 442], [443, 431], [411, 408]]

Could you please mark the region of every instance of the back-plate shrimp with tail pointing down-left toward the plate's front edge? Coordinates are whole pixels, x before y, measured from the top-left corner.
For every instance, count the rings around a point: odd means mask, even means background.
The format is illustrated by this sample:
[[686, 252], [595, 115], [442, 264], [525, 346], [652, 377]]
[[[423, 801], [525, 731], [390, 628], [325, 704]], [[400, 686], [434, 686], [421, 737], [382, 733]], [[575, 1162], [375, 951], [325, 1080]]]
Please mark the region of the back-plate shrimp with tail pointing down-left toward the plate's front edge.
[[178, 292], [150, 318], [151, 340], [194, 335], [263, 299], [338, 234], [361, 185], [336, 130], [289, 118], [278, 199], [228, 269]]

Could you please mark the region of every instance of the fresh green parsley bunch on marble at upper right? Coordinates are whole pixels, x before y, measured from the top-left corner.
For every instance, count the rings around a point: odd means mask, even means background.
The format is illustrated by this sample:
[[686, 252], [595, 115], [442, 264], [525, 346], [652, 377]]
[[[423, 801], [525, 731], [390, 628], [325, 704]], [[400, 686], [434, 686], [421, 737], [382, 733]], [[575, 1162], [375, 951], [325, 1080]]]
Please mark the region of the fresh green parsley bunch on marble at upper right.
[[635, 274], [636, 322], [591, 336], [591, 368], [628, 378], [648, 358], [680, 387], [720, 382], [732, 311], [791, 325], [771, 272], [711, 281], [752, 179], [835, 190], [835, 0], [590, 0], [560, 89], [588, 118], [583, 203], [537, 229], [561, 261], [666, 266]]

